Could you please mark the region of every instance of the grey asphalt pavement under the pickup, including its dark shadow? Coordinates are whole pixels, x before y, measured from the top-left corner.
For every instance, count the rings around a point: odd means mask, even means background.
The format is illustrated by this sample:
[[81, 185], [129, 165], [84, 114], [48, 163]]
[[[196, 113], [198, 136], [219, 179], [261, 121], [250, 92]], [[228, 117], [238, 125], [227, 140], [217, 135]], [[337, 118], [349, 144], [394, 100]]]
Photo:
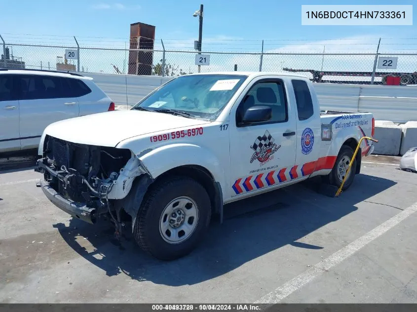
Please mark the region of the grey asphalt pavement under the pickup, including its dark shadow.
[[159, 261], [0, 172], [1, 303], [416, 303], [417, 174], [368, 157], [339, 198], [311, 180], [229, 204], [189, 256]]

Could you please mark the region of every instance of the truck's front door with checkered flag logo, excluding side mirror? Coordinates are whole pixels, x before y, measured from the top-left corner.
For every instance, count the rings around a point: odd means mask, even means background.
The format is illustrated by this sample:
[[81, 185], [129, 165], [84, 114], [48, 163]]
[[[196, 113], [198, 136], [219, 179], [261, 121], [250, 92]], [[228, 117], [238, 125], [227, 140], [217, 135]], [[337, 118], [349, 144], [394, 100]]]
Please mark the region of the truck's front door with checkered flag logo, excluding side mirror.
[[[295, 164], [297, 128], [284, 81], [258, 79], [246, 90], [230, 115], [231, 196], [289, 182]], [[254, 105], [271, 107], [272, 118], [266, 122], [242, 123], [245, 111]]]

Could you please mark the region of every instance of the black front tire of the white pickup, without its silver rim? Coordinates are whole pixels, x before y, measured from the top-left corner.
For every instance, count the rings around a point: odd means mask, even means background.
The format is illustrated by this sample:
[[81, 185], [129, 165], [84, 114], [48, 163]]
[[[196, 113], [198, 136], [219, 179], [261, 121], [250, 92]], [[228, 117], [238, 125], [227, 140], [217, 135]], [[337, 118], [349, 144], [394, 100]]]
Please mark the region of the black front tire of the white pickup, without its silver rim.
[[[187, 196], [198, 211], [197, 224], [190, 237], [181, 243], [167, 243], [160, 232], [160, 221], [165, 207], [174, 199]], [[197, 181], [175, 176], [156, 182], [145, 196], [133, 228], [136, 243], [161, 260], [174, 260], [190, 253], [201, 241], [210, 224], [210, 198]]]

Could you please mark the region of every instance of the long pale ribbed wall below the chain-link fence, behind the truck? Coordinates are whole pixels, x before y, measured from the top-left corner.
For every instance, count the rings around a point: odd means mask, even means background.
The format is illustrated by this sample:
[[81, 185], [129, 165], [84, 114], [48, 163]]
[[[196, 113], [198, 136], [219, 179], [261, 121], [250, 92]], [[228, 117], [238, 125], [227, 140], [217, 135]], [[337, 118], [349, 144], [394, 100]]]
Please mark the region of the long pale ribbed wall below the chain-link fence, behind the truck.
[[[134, 105], [173, 77], [82, 72], [115, 104]], [[376, 120], [417, 120], [417, 86], [313, 83], [321, 109], [372, 112]]]

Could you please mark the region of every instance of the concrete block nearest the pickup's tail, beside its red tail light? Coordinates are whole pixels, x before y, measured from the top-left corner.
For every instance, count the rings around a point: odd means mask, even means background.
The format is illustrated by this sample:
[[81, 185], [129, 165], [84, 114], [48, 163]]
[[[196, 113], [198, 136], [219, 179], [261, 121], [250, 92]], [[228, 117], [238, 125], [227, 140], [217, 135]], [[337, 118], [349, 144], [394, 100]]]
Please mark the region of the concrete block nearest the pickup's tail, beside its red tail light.
[[401, 126], [397, 126], [392, 121], [376, 120], [374, 138], [379, 142], [373, 143], [375, 145], [374, 154], [398, 155], [401, 147], [401, 135]]

